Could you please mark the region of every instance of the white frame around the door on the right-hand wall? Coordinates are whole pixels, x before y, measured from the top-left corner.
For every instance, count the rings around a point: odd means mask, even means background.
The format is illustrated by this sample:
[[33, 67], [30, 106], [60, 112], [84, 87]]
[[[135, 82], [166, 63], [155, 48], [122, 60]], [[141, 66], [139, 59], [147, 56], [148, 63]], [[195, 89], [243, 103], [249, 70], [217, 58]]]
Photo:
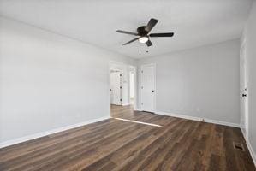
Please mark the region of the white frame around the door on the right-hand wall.
[[[242, 43], [241, 43], [241, 48], [240, 48], [240, 58], [243, 58], [243, 60], [244, 60], [244, 80], [245, 80], [245, 85], [246, 85], [246, 88], [247, 88], [247, 97], [246, 97], [246, 99], [245, 99], [245, 111], [244, 111], [244, 119], [245, 119], [245, 131], [246, 131], [246, 133], [243, 133], [243, 129], [242, 129], [242, 127], [241, 127], [241, 131], [242, 131], [242, 133], [244, 134], [244, 137], [245, 137], [245, 139], [246, 139], [246, 141], [248, 140], [248, 137], [249, 137], [249, 133], [248, 133], [248, 131], [249, 131], [249, 114], [248, 114], [248, 101], [249, 101], [249, 98], [248, 98], [248, 95], [249, 95], [249, 90], [248, 90], [248, 84], [247, 84], [247, 80], [248, 80], [248, 78], [247, 78], [247, 58], [246, 58], [246, 50], [245, 50], [245, 47], [246, 47], [246, 40], [243, 40], [242, 41]], [[243, 51], [243, 53], [242, 53], [242, 51], [241, 50], [244, 50]], [[240, 59], [241, 60], [241, 59]], [[241, 64], [240, 64], [240, 68], [241, 68]], [[241, 74], [240, 74], [241, 75]], [[243, 88], [244, 87], [241, 87], [241, 85], [240, 85], [240, 91], [241, 91], [241, 93], [240, 93], [240, 100], [242, 100], [242, 97], [241, 97], [241, 95], [242, 95], [242, 93], [243, 93]], [[241, 103], [243, 103], [243, 102], [241, 102]]]

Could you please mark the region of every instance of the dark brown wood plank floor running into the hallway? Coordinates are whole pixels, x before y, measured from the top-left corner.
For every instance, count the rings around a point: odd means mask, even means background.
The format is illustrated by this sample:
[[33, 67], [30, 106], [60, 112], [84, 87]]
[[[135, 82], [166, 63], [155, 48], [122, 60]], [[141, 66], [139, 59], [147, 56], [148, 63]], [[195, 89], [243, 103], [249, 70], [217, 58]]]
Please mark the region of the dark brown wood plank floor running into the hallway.
[[[255, 170], [241, 130], [112, 106], [109, 119], [0, 149], [0, 170]], [[233, 142], [245, 151], [235, 150]]]

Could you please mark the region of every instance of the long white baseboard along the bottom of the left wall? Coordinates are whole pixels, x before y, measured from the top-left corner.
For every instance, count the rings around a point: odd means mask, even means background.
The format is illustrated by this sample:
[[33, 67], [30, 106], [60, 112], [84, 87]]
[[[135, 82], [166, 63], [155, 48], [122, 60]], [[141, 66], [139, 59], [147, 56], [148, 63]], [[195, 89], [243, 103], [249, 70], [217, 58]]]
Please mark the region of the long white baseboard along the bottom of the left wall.
[[27, 136], [24, 136], [24, 137], [21, 137], [21, 138], [18, 138], [18, 139], [11, 139], [11, 140], [4, 141], [4, 142], [0, 143], [0, 148], [7, 147], [7, 146], [13, 145], [13, 144], [19, 144], [19, 143], [22, 143], [22, 142], [25, 142], [25, 141], [28, 141], [28, 140], [32, 140], [32, 139], [38, 139], [38, 138], [44, 137], [46, 135], [63, 132], [63, 131], [66, 131], [68, 129], [72, 129], [74, 127], [85, 126], [87, 124], [94, 123], [94, 122], [97, 122], [97, 121], [103, 121], [103, 120], [106, 120], [106, 119], [109, 119], [109, 118], [110, 118], [110, 116], [108, 115], [108, 116], [100, 117], [100, 118], [97, 118], [97, 119], [92, 119], [92, 120], [89, 120], [89, 121], [83, 121], [83, 122], [76, 123], [76, 124], [69, 125], [69, 126], [65, 126], [65, 127], [59, 127], [59, 128], [56, 128], [56, 129], [46, 131], [46, 132], [42, 132], [42, 133], [34, 133], [34, 134], [27, 135]]

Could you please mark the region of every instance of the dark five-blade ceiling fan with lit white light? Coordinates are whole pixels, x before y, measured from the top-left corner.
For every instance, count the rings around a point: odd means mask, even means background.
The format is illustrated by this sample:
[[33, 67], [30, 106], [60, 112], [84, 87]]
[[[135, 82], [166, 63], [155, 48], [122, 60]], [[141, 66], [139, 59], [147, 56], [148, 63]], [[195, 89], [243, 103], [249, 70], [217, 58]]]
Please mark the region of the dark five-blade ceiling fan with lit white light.
[[140, 43], [142, 44], [146, 44], [147, 46], [152, 46], [152, 42], [150, 41], [149, 38], [155, 38], [155, 37], [173, 37], [174, 33], [173, 32], [161, 32], [161, 33], [151, 33], [149, 34], [149, 32], [152, 30], [153, 27], [156, 26], [156, 24], [158, 23], [157, 19], [150, 19], [150, 21], [147, 23], [146, 26], [142, 26], [142, 27], [138, 27], [137, 28], [137, 32], [126, 32], [126, 31], [122, 31], [122, 30], [117, 30], [116, 32], [119, 33], [124, 33], [124, 34], [130, 34], [130, 35], [134, 35], [134, 36], [139, 36], [137, 38], [134, 38], [130, 41], [128, 41], [125, 44], [122, 45], [127, 45], [130, 44], [136, 40], [139, 40]]

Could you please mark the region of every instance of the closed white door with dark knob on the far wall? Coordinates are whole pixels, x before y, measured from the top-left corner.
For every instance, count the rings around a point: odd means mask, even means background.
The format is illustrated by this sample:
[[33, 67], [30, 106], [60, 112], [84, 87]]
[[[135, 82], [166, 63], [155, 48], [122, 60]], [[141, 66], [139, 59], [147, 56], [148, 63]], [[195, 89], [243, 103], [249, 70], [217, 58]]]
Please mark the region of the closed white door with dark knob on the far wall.
[[155, 112], [155, 65], [141, 66], [141, 109]]

